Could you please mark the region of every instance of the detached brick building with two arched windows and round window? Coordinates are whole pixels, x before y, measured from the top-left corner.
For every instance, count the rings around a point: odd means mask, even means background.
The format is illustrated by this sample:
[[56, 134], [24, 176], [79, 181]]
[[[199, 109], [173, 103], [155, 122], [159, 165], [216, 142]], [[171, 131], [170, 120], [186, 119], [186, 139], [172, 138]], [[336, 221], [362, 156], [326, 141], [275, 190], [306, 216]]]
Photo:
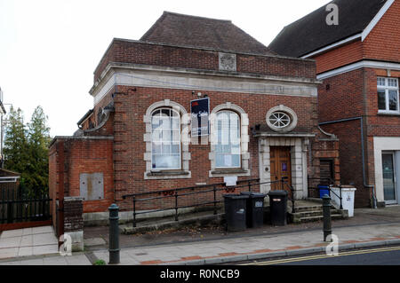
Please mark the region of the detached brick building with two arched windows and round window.
[[[132, 218], [127, 193], [224, 177], [287, 176], [304, 199], [320, 161], [332, 161], [330, 174], [340, 178], [338, 140], [317, 124], [318, 84], [314, 60], [277, 56], [230, 20], [164, 12], [139, 41], [108, 46], [94, 71], [93, 108], [74, 136], [50, 146], [52, 197], [82, 196], [85, 221], [108, 219], [113, 202], [121, 218]], [[205, 144], [191, 137], [188, 115], [204, 97]]]

